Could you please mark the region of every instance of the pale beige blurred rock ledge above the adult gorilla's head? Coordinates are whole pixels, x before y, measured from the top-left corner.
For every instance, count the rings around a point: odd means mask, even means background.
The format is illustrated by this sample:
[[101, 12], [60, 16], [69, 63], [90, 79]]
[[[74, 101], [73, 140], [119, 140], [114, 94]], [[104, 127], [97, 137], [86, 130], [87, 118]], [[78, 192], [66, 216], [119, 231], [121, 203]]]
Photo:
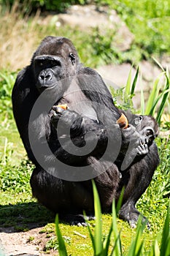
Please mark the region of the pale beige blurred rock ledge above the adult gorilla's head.
[[81, 30], [98, 28], [101, 34], [106, 31], [112, 31], [114, 36], [113, 44], [120, 50], [128, 50], [134, 40], [134, 35], [128, 30], [125, 23], [120, 20], [115, 10], [109, 10], [107, 7], [97, 8], [95, 5], [70, 7], [66, 13], [58, 15], [56, 26], [68, 24], [77, 26]]

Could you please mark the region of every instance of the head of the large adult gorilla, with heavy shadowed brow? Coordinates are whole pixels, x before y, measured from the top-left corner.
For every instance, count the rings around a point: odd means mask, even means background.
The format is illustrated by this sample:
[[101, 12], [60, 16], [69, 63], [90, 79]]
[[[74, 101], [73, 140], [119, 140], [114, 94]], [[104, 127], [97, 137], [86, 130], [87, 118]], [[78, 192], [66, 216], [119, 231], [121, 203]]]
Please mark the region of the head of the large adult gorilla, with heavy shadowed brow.
[[39, 91], [57, 86], [58, 80], [76, 75], [79, 58], [69, 39], [47, 37], [36, 50], [32, 67]]

